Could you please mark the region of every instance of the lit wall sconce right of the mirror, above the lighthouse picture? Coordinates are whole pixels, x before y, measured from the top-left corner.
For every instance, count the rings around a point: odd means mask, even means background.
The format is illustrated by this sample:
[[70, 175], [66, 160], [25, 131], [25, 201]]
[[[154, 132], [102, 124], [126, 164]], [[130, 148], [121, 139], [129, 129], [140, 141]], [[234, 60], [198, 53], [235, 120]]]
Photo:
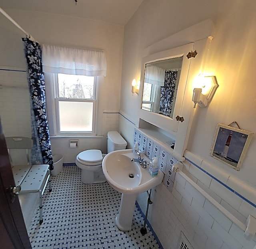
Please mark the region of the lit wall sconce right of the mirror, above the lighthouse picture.
[[196, 108], [196, 104], [200, 107], [206, 107], [218, 88], [217, 79], [215, 76], [199, 75], [197, 85], [198, 87], [194, 88], [192, 97], [194, 108]]

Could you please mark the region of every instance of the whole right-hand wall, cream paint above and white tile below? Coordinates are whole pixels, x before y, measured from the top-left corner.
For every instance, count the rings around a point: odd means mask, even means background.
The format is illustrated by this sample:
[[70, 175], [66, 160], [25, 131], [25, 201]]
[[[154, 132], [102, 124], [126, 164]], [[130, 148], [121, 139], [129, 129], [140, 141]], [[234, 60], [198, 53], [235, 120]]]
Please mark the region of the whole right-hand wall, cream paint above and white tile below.
[[[131, 147], [140, 104], [138, 95], [131, 93], [131, 82], [133, 78], [140, 79], [144, 49], [202, 20], [214, 22], [214, 40], [209, 47], [204, 72], [216, 75], [220, 87], [207, 108], [196, 108], [185, 155], [213, 178], [188, 161], [184, 162], [184, 172], [243, 223], [248, 214], [256, 216], [255, 135], [240, 171], [209, 154], [218, 123], [237, 121], [244, 130], [256, 133], [255, 11], [256, 3], [251, 0], [146, 0], [124, 30], [120, 130]], [[227, 187], [237, 191], [242, 198]], [[180, 231], [196, 249], [254, 248], [255, 236], [254, 240], [246, 241], [239, 227], [201, 197], [182, 176], [177, 176], [172, 193], [164, 185], [156, 188], [149, 221], [164, 248], [176, 249]], [[144, 211], [146, 198], [146, 194], [138, 196]]]

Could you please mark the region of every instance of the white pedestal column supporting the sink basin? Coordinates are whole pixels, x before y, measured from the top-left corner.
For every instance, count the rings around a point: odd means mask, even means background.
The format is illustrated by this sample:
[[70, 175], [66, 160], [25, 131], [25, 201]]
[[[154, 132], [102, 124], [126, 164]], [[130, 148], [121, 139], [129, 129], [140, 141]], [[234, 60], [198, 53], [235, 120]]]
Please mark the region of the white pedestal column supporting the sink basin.
[[122, 231], [132, 229], [132, 218], [137, 194], [122, 194], [118, 215], [116, 216], [116, 226]]

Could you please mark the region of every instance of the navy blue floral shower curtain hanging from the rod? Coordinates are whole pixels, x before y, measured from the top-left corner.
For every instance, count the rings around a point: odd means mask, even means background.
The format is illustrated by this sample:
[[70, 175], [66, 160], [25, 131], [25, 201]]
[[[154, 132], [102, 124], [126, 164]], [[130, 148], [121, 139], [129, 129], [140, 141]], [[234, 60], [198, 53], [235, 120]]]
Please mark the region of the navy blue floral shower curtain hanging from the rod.
[[53, 170], [52, 148], [46, 115], [44, 73], [42, 71], [42, 50], [40, 44], [22, 38], [25, 45], [28, 85], [30, 89], [31, 125], [33, 148], [32, 164], [49, 164]]

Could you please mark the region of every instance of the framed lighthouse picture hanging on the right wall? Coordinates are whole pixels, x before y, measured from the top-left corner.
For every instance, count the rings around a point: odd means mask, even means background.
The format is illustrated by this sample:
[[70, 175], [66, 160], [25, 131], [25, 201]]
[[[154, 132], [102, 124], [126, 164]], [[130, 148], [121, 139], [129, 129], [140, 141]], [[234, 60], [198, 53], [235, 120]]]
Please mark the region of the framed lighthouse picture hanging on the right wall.
[[252, 140], [253, 132], [218, 124], [210, 155], [224, 164], [240, 170], [242, 161]]

